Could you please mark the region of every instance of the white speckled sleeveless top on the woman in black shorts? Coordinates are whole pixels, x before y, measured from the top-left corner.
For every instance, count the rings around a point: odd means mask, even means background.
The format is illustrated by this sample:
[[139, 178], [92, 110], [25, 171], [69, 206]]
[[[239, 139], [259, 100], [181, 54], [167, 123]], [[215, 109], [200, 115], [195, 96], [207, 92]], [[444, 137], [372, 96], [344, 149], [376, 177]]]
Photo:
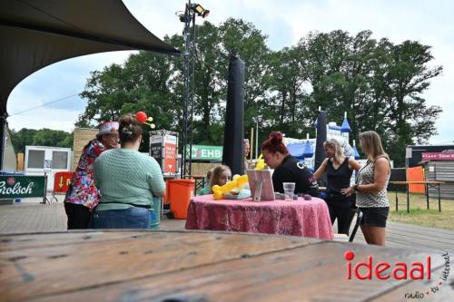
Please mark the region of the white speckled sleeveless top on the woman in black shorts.
[[[376, 160], [377, 161], [377, 160]], [[369, 161], [361, 170], [358, 175], [358, 184], [370, 184], [374, 181], [375, 161]], [[377, 193], [366, 193], [356, 191], [356, 205], [360, 208], [387, 208], [390, 207], [388, 201], [388, 181], [390, 181], [390, 174], [386, 178], [385, 187]]]

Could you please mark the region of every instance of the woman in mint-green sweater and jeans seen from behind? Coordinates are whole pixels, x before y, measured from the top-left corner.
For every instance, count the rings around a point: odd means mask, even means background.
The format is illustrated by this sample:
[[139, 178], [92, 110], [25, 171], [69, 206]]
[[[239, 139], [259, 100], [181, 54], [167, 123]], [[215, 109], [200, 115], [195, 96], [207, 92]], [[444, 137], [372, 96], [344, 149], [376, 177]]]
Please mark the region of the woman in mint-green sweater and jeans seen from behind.
[[101, 200], [94, 229], [148, 229], [153, 196], [165, 192], [157, 161], [139, 152], [142, 127], [133, 115], [119, 120], [121, 148], [105, 151], [94, 162], [94, 183]]

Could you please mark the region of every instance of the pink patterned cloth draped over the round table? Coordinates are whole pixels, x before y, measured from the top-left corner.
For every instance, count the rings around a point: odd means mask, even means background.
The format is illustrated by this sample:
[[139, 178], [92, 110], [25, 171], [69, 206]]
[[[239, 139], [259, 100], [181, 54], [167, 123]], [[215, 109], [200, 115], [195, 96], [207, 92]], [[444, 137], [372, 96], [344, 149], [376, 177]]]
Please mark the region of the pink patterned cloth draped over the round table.
[[196, 196], [188, 208], [186, 229], [211, 229], [332, 239], [324, 200], [212, 200]]

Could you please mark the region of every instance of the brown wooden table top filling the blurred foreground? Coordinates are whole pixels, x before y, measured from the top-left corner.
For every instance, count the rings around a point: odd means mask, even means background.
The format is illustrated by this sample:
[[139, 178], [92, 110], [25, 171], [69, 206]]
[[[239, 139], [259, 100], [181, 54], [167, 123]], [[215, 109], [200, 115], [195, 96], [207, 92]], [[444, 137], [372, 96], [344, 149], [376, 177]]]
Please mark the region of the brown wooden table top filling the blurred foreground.
[[[430, 255], [432, 279], [349, 280], [348, 250], [356, 255], [352, 266], [372, 255], [374, 264], [405, 261], [410, 267]], [[0, 301], [404, 301], [406, 293], [438, 284], [444, 261], [441, 254], [244, 233], [3, 235]], [[454, 297], [453, 281], [429, 297]]]

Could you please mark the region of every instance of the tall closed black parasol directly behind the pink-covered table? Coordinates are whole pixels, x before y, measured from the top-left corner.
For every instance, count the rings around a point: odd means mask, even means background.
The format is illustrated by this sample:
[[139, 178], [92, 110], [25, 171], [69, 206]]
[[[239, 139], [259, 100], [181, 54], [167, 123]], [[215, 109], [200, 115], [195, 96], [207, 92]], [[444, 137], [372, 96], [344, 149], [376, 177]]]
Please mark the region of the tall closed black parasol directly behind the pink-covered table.
[[232, 55], [229, 63], [227, 106], [225, 111], [222, 164], [234, 174], [242, 170], [242, 139], [244, 136], [244, 62]]

